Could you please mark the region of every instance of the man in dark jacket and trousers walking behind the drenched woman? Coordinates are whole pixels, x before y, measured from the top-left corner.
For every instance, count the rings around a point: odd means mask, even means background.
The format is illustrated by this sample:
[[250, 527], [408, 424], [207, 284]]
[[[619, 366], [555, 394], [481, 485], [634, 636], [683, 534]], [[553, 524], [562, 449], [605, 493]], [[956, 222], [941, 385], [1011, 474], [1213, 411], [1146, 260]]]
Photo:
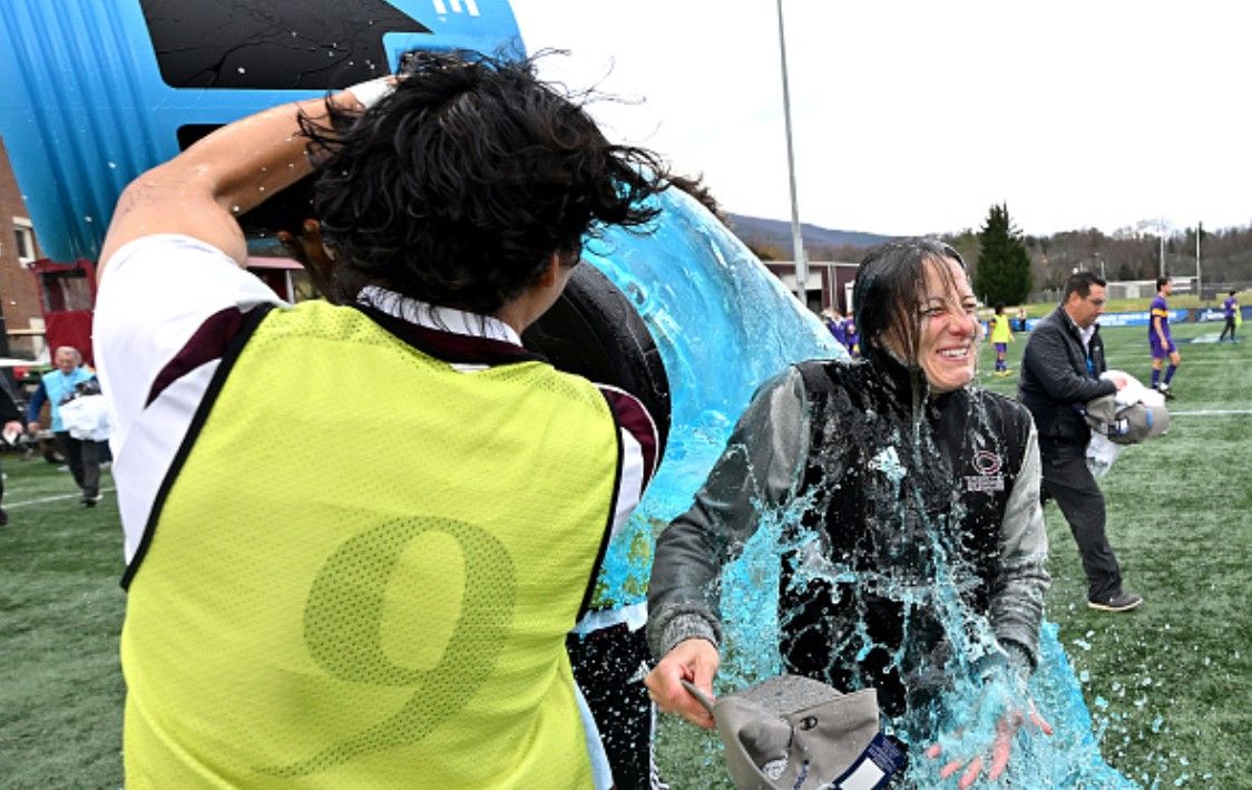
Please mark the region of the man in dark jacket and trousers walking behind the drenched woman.
[[1143, 598], [1122, 588], [1122, 568], [1104, 535], [1104, 495], [1087, 468], [1092, 398], [1113, 394], [1126, 379], [1101, 379], [1104, 342], [1096, 319], [1104, 312], [1104, 280], [1079, 272], [1065, 280], [1060, 305], [1035, 326], [1025, 346], [1018, 399], [1034, 416], [1043, 464], [1043, 500], [1054, 498], [1078, 541], [1087, 573], [1087, 603], [1124, 612]]

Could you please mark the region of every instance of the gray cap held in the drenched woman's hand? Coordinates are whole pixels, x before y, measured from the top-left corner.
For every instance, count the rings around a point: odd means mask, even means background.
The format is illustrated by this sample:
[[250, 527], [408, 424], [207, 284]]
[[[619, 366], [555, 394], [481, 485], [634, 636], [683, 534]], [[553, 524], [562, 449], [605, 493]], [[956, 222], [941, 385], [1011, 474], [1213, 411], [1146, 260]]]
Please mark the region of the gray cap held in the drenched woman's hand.
[[712, 702], [682, 685], [712, 714], [739, 790], [880, 787], [903, 764], [879, 732], [874, 689], [840, 694], [782, 675]]

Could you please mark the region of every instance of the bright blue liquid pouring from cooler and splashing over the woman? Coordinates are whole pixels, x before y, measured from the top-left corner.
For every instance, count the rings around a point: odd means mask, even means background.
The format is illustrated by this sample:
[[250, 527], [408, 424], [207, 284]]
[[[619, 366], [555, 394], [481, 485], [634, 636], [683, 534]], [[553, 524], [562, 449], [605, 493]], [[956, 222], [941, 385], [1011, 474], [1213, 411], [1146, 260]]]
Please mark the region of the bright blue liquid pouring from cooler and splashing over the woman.
[[[846, 357], [820, 322], [801, 310], [755, 255], [694, 199], [670, 190], [661, 203], [664, 215], [655, 234], [610, 230], [602, 239], [590, 240], [585, 252], [647, 324], [665, 362], [672, 399], [672, 429], [661, 467], [605, 560], [601, 593], [618, 605], [645, 600], [655, 536], [690, 506], [756, 387], [788, 363]], [[879, 459], [884, 468], [893, 462], [890, 453]], [[760, 530], [724, 572], [726, 641], [719, 676], [724, 689], [782, 670], [779, 575], [781, 557], [800, 548], [796, 541], [806, 540], [803, 531], [798, 537], [795, 528], [804, 505], [762, 513]], [[936, 568], [955, 565], [945, 562], [947, 547], [940, 542], [934, 550]], [[840, 580], [856, 576], [838, 566], [820, 572]], [[794, 583], [804, 581], [801, 573]], [[896, 593], [926, 596], [914, 602], [940, 613], [958, 656], [948, 667], [953, 682], [929, 717], [903, 722], [895, 734], [909, 741], [923, 731], [952, 732], [942, 740], [944, 754], [973, 756], [990, 742], [989, 734], [1003, 711], [1028, 696], [1054, 734], [1027, 734], [1023, 727], [999, 786], [1136, 786], [1101, 756], [1098, 734], [1057, 626], [1044, 623], [1039, 667], [1024, 689], [1007, 672], [984, 680], [975, 667], [993, 644], [990, 628], [962, 602], [964, 581], [959, 573], [938, 573], [936, 581], [928, 588], [900, 588]], [[955, 726], [962, 727], [960, 735], [955, 735]], [[943, 784], [938, 779], [943, 760], [925, 760], [920, 746], [910, 751], [914, 757], [908, 780], [921, 786]]]

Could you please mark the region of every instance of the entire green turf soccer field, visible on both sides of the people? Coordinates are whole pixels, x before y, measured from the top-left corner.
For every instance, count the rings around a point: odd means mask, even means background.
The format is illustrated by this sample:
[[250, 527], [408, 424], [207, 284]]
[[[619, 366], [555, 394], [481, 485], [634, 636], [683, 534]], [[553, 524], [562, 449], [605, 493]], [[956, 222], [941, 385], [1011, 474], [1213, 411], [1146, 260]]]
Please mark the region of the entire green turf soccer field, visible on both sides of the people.
[[[1101, 731], [1106, 759], [1144, 786], [1252, 786], [1252, 343], [1196, 342], [1218, 324], [1174, 328], [1183, 367], [1169, 432], [1126, 449], [1102, 486], [1109, 538], [1127, 587], [1146, 603], [1128, 615], [1088, 610], [1078, 552], [1054, 506], [1045, 510], [1060, 627]], [[1142, 327], [1104, 332], [1111, 367], [1148, 381]], [[1009, 347], [1014, 367], [1024, 336]], [[979, 381], [994, 378], [983, 349]], [[95, 510], [69, 475], [0, 456], [0, 786], [121, 786], [123, 682], [118, 634], [125, 596], [111, 478]], [[665, 717], [659, 759], [677, 789], [729, 786], [702, 734]]]

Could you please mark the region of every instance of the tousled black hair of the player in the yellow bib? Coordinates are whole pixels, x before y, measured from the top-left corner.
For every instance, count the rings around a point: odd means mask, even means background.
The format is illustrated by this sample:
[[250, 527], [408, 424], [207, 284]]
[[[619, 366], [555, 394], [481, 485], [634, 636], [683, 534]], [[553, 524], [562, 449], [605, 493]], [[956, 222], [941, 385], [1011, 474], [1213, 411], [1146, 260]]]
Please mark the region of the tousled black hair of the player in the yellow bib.
[[532, 59], [417, 51], [402, 74], [364, 113], [328, 101], [329, 126], [300, 121], [336, 297], [377, 284], [492, 314], [553, 253], [573, 265], [588, 233], [656, 217], [664, 162], [611, 144], [590, 96], [541, 81]]

